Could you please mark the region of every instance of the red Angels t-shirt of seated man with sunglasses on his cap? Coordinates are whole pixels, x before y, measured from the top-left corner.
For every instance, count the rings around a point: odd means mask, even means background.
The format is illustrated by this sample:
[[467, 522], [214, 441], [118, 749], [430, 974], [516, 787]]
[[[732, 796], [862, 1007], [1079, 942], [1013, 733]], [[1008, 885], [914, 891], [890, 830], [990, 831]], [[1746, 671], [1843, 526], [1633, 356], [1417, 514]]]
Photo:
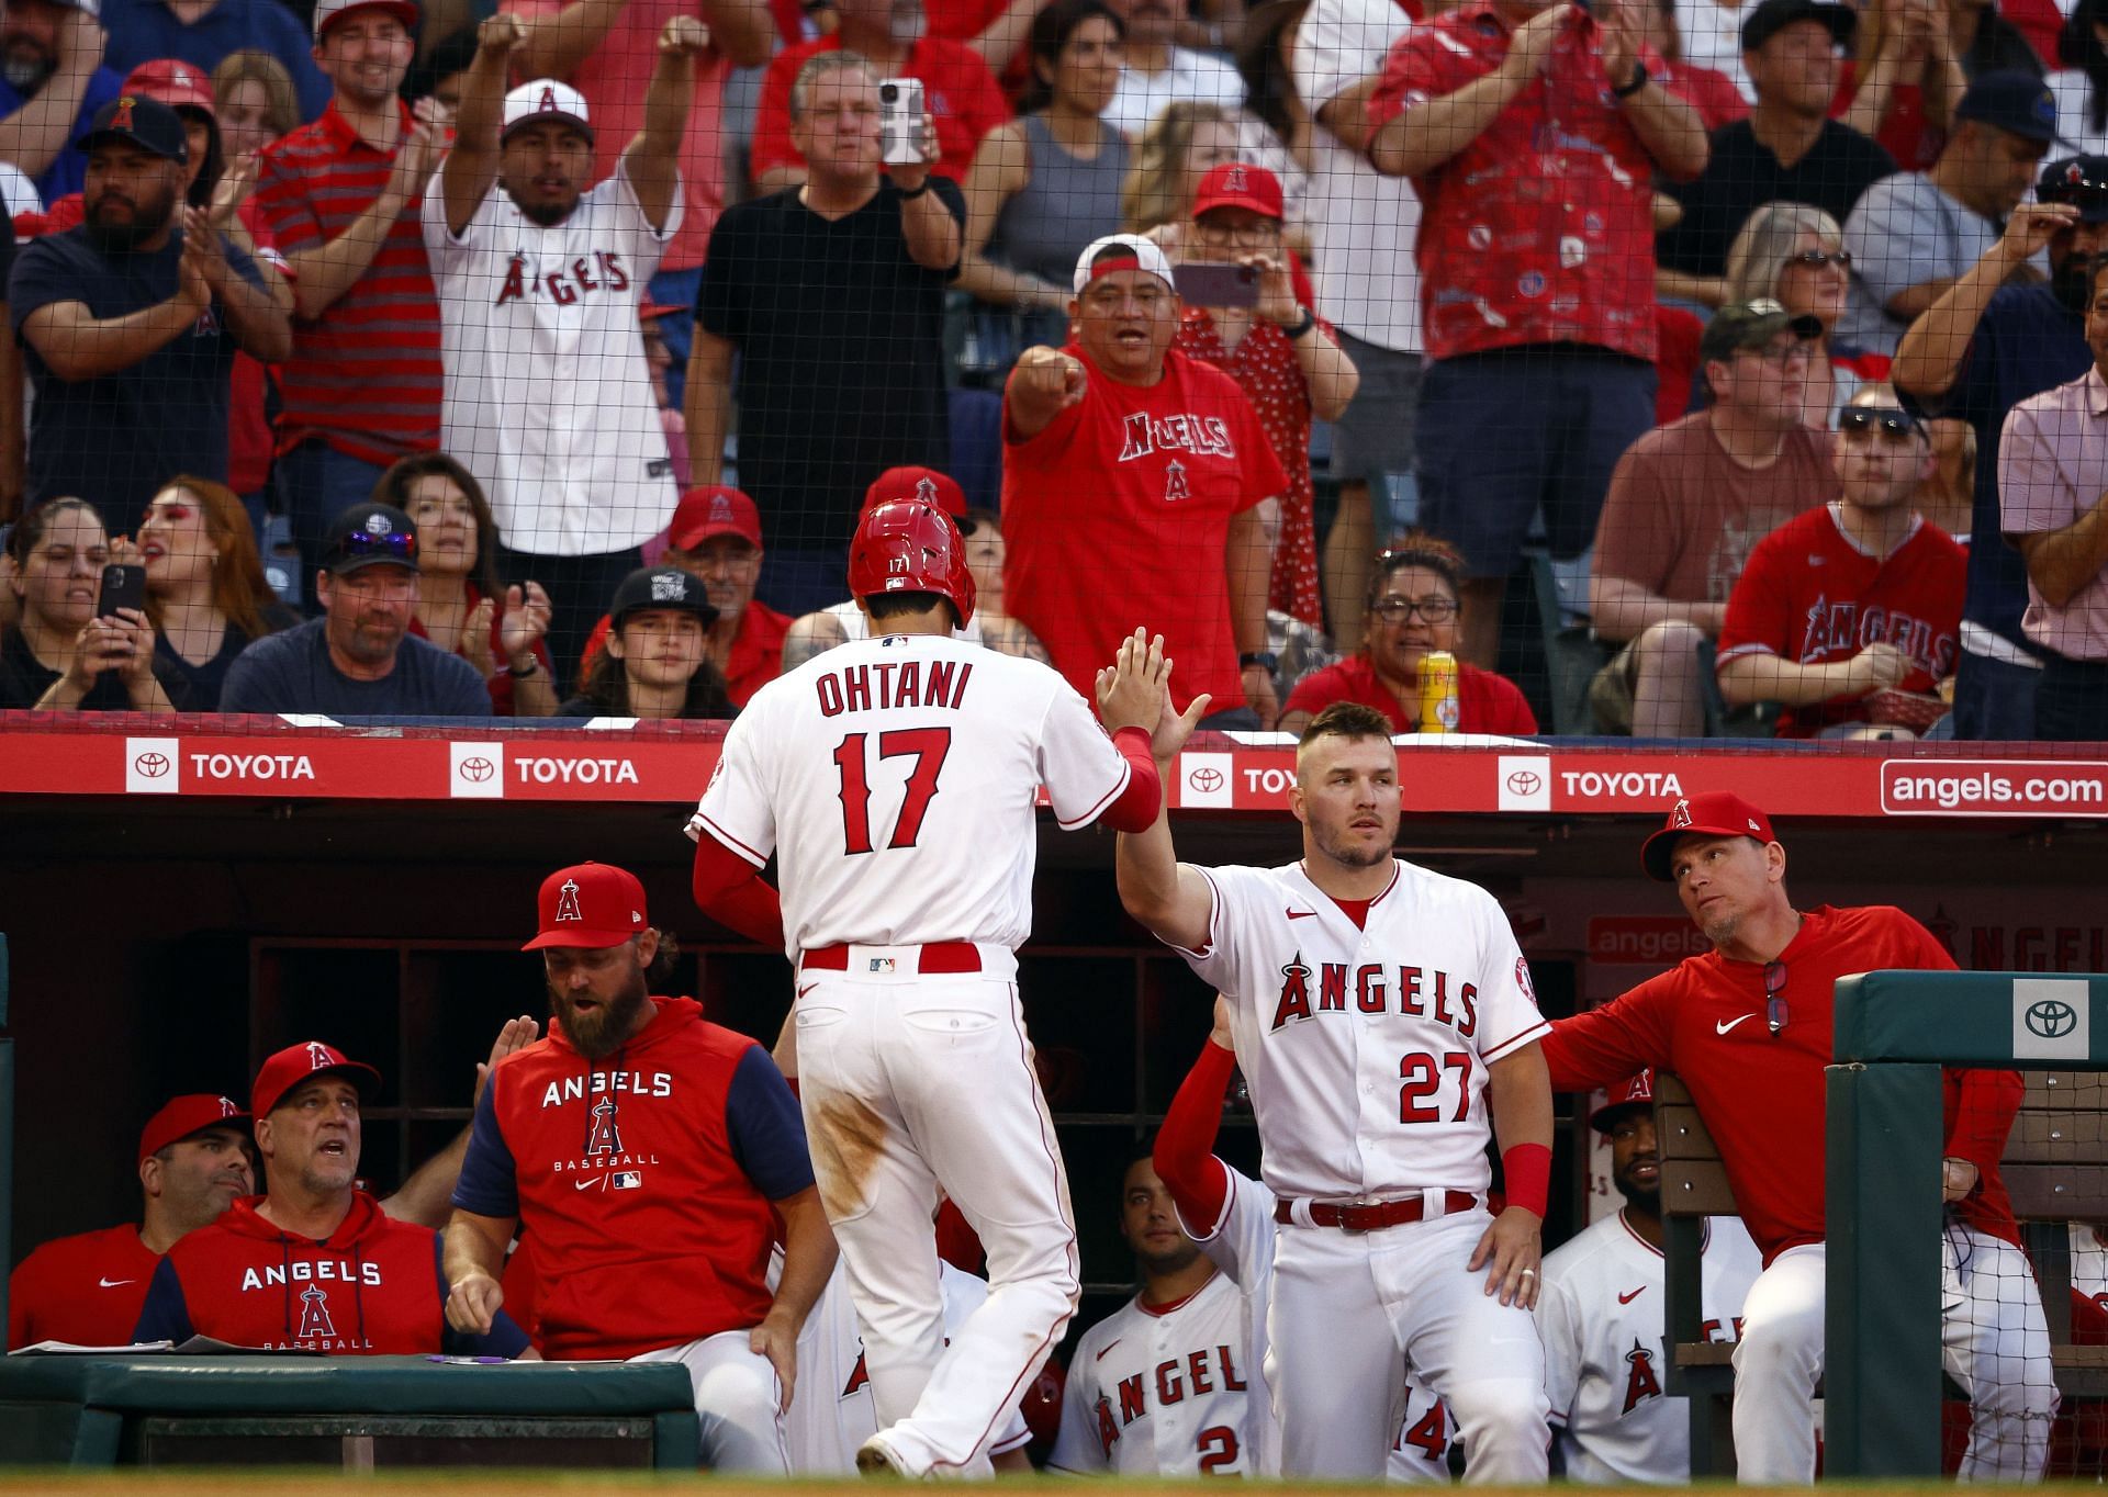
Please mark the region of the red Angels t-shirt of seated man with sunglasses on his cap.
[[[1771, 531], [1726, 601], [1720, 664], [1737, 656], [1777, 656], [1796, 664], [1851, 660], [1868, 645], [1910, 656], [1901, 692], [1931, 692], [1954, 670], [1960, 647], [1969, 557], [1939, 529], [1918, 521], [1887, 557], [1874, 557], [1838, 525], [1836, 502]], [[1779, 713], [1781, 738], [1811, 738], [1832, 723], [1863, 723], [1863, 698], [1834, 698]]]

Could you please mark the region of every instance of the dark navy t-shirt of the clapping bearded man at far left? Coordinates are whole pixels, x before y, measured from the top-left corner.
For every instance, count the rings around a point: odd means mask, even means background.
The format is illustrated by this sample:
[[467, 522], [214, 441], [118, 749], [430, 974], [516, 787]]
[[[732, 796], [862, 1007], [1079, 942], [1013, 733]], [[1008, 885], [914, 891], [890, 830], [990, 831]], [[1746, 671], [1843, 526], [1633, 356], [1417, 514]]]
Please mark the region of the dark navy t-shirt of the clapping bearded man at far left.
[[[148, 495], [179, 472], [228, 479], [228, 371], [234, 333], [213, 306], [152, 354], [95, 380], [67, 384], [21, 337], [32, 312], [82, 302], [97, 318], [129, 316], [175, 295], [183, 232], [143, 253], [103, 253], [84, 228], [23, 247], [8, 274], [8, 316], [36, 386], [30, 413], [30, 504], [61, 493], [93, 500], [112, 525], [129, 523]], [[255, 264], [226, 245], [234, 274], [261, 287]]]

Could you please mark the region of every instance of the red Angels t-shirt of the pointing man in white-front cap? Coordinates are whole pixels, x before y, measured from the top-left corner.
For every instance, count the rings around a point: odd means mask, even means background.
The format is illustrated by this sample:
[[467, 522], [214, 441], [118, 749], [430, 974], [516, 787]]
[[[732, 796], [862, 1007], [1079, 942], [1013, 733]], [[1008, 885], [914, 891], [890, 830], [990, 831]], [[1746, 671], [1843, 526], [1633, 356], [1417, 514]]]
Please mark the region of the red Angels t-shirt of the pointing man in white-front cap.
[[[1223, 546], [1233, 514], [1288, 491], [1237, 382], [1172, 350], [1153, 386], [1090, 384], [1037, 436], [1003, 415], [1003, 592], [1069, 685], [1094, 698], [1100, 666], [1136, 628], [1164, 635], [1172, 700], [1244, 704]], [[1265, 578], [1258, 580], [1265, 588]]]

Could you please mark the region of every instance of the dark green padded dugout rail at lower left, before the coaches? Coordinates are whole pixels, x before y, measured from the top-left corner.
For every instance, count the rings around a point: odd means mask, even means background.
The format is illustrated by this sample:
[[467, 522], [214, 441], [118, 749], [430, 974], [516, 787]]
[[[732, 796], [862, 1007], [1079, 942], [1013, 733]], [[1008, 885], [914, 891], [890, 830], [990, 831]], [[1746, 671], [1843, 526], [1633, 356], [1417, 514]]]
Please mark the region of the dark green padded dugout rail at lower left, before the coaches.
[[700, 1440], [679, 1362], [0, 1358], [0, 1465], [694, 1472]]

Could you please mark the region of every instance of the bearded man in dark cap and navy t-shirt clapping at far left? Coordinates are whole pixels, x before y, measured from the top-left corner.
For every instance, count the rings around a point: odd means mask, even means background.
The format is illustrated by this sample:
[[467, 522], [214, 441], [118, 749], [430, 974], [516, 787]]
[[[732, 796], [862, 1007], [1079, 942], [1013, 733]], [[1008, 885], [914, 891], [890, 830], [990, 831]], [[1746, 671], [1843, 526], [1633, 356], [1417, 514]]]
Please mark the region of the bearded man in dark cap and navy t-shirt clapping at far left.
[[36, 390], [27, 495], [129, 514], [179, 472], [228, 477], [234, 354], [285, 358], [293, 327], [249, 255], [181, 205], [175, 110], [120, 95], [84, 145], [86, 217], [23, 249], [8, 278]]

